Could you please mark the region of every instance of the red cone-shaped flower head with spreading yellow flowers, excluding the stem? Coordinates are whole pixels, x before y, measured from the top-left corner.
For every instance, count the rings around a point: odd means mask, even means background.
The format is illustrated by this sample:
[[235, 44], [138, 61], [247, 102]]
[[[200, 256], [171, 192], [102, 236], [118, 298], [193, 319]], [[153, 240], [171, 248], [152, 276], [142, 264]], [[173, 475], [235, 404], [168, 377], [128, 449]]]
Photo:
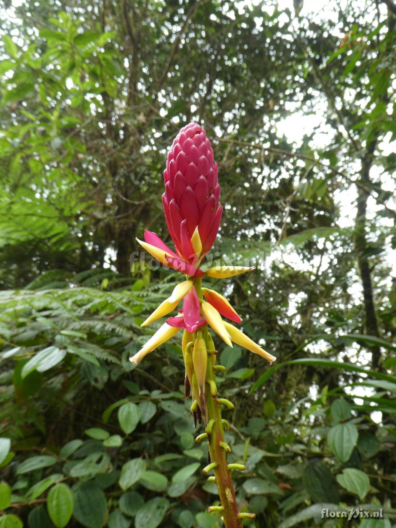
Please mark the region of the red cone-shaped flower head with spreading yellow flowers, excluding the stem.
[[175, 335], [180, 328], [185, 329], [184, 335], [193, 336], [198, 328], [209, 324], [229, 346], [232, 346], [232, 342], [237, 343], [272, 363], [274, 356], [238, 328], [222, 320], [221, 315], [235, 323], [242, 320], [227, 299], [208, 288], [202, 288], [204, 298], [199, 299], [197, 294], [197, 281], [201, 291], [201, 278], [204, 275], [220, 279], [253, 269], [243, 266], [215, 266], [205, 272], [200, 269], [202, 259], [212, 247], [219, 230], [222, 214], [218, 167], [214, 163], [210, 141], [200, 125], [190, 123], [176, 136], [168, 154], [164, 181], [165, 218], [175, 251], [169, 249], [151, 231], [145, 231], [144, 241], [138, 242], [164, 266], [186, 275], [187, 280], [176, 286], [172, 295], [142, 326], [168, 315], [181, 300], [183, 309], [177, 316], [168, 317], [167, 322], [131, 361], [138, 363], [146, 354]]

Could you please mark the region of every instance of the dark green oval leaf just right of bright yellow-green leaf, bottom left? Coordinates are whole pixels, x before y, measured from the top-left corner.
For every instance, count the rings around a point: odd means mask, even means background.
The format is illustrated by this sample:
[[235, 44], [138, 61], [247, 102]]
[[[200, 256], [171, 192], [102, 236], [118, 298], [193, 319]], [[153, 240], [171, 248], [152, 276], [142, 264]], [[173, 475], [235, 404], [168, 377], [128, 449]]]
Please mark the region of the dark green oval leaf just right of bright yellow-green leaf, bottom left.
[[74, 492], [73, 517], [86, 528], [102, 528], [105, 525], [106, 496], [92, 480], [82, 482]]

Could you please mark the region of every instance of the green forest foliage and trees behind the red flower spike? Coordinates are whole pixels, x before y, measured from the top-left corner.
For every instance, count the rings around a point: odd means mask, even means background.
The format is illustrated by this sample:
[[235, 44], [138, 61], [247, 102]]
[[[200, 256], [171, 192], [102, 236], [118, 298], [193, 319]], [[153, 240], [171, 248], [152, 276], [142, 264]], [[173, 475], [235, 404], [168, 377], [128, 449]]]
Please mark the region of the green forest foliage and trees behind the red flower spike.
[[244, 525], [395, 525], [395, 22], [393, 0], [3, 1], [1, 528], [222, 525], [181, 335], [128, 361], [177, 280], [129, 256], [145, 228], [168, 241], [191, 120], [219, 164], [214, 257], [257, 265], [213, 287], [277, 356], [215, 338]]

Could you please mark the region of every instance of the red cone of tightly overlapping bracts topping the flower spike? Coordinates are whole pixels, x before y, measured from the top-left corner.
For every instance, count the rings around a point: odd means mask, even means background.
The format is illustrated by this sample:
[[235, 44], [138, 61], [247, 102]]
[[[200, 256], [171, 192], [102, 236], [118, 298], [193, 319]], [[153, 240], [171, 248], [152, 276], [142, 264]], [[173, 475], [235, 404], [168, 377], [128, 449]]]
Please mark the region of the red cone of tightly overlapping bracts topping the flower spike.
[[[176, 252], [190, 263], [207, 253], [219, 230], [218, 166], [205, 130], [196, 123], [183, 127], [172, 144], [164, 171], [162, 196], [165, 218]], [[202, 249], [192, 237], [198, 229]]]

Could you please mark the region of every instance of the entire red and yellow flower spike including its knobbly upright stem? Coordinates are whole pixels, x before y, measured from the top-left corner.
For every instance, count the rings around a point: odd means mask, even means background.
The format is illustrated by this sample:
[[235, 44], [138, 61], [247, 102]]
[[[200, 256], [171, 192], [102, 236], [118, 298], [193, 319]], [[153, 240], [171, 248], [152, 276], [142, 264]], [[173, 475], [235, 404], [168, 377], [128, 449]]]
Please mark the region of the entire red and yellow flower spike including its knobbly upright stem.
[[213, 149], [205, 130], [190, 123], [180, 130], [167, 157], [164, 171], [165, 193], [162, 196], [165, 218], [175, 251], [169, 249], [159, 237], [145, 231], [143, 248], [164, 266], [180, 271], [186, 280], [178, 284], [170, 297], [145, 320], [142, 326], [172, 312], [183, 300], [183, 309], [176, 317], [168, 317], [166, 323], [147, 341], [131, 361], [137, 364], [149, 352], [184, 329], [182, 350], [185, 363], [185, 397], [190, 398], [195, 427], [197, 421], [204, 422], [205, 432], [196, 441], [207, 440], [210, 463], [204, 474], [213, 470], [213, 480], [219, 489], [221, 506], [211, 506], [209, 511], [222, 512], [227, 528], [240, 528], [243, 518], [254, 514], [239, 513], [231, 472], [243, 470], [241, 464], [227, 464], [226, 456], [231, 451], [224, 442], [223, 431], [229, 428], [222, 419], [221, 407], [233, 408], [233, 404], [221, 398], [216, 388], [215, 374], [224, 371], [216, 365], [216, 352], [208, 324], [227, 345], [232, 342], [272, 363], [275, 357], [254, 343], [231, 323], [223, 321], [221, 315], [234, 323], [241, 318], [230, 303], [216, 291], [202, 287], [206, 275], [217, 279], [233, 277], [252, 268], [242, 266], [215, 266], [205, 272], [200, 269], [205, 254], [211, 249], [219, 230], [222, 206], [218, 166], [214, 163]]

